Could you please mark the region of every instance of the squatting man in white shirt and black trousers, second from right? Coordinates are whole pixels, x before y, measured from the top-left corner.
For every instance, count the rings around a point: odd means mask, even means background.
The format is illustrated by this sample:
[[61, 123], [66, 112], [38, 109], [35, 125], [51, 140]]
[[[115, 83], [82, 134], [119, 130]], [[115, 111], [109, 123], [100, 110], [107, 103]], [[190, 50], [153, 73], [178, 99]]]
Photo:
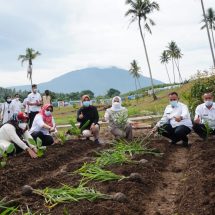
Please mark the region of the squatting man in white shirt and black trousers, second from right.
[[192, 121], [190, 113], [185, 104], [179, 102], [179, 97], [176, 92], [169, 94], [169, 102], [163, 117], [157, 123], [153, 131], [158, 131], [161, 135], [171, 139], [172, 144], [183, 142], [183, 146], [188, 147], [187, 135], [191, 132]]

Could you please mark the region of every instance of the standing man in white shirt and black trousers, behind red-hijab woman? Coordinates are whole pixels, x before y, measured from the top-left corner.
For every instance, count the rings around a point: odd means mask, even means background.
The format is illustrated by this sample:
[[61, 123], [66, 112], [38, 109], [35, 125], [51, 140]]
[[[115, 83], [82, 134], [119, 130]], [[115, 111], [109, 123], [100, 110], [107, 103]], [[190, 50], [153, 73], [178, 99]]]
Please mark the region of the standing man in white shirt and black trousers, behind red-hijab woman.
[[42, 98], [37, 92], [37, 85], [32, 85], [32, 93], [27, 97], [27, 105], [29, 106], [29, 128], [31, 128], [34, 121], [34, 117], [39, 113], [41, 109]]

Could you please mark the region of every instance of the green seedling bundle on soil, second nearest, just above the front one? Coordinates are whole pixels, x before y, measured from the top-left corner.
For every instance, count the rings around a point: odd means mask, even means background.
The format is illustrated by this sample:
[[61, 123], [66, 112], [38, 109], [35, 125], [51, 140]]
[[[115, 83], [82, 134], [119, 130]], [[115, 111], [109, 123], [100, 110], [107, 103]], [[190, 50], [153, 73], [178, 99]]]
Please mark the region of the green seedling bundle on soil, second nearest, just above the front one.
[[111, 171], [104, 170], [100, 166], [96, 165], [96, 163], [84, 163], [84, 165], [76, 170], [74, 173], [78, 173], [81, 175], [82, 183], [86, 184], [91, 180], [96, 181], [113, 181], [113, 180], [122, 180], [127, 178], [123, 175], [117, 175]]

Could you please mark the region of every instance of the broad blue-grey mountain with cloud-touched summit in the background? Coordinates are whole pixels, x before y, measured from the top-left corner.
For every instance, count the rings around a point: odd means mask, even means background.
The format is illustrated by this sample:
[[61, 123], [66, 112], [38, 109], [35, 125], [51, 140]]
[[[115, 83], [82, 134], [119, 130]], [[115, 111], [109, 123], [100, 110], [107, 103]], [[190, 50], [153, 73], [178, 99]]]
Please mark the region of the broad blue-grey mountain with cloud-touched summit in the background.
[[[140, 77], [141, 87], [150, 86], [150, 78]], [[154, 84], [163, 82], [154, 80]], [[29, 90], [30, 85], [14, 86], [16, 90]], [[46, 89], [58, 93], [80, 92], [82, 90], [91, 90], [95, 95], [104, 95], [110, 89], [114, 88], [121, 93], [135, 90], [134, 79], [127, 70], [116, 67], [109, 68], [86, 68], [68, 72], [51, 81], [38, 84], [40, 92]]]

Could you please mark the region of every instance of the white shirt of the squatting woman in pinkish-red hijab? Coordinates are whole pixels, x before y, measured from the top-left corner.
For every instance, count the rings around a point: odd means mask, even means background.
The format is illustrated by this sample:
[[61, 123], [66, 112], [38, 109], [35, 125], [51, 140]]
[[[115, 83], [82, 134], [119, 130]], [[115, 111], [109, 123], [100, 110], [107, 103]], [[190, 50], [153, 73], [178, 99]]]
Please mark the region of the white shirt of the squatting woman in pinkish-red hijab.
[[[32, 127], [30, 129], [30, 134], [35, 131], [42, 131], [44, 135], [49, 135], [49, 130], [47, 128], [43, 128], [44, 126], [43, 117], [41, 114], [37, 114], [34, 118]], [[52, 124], [55, 125], [54, 118], [52, 117]]]

